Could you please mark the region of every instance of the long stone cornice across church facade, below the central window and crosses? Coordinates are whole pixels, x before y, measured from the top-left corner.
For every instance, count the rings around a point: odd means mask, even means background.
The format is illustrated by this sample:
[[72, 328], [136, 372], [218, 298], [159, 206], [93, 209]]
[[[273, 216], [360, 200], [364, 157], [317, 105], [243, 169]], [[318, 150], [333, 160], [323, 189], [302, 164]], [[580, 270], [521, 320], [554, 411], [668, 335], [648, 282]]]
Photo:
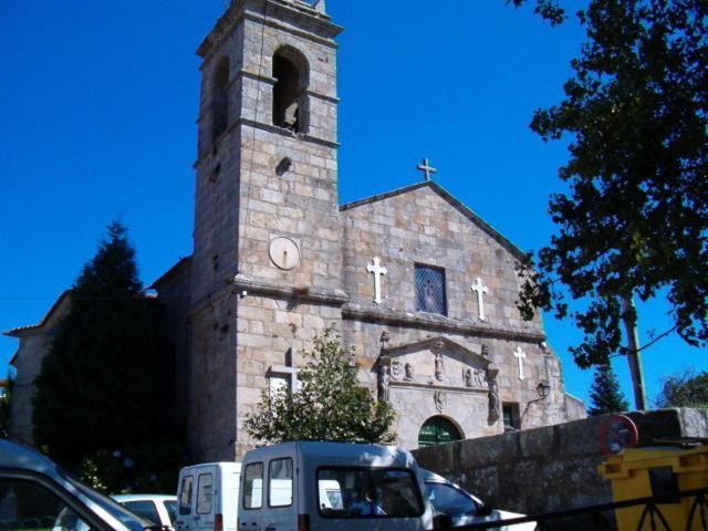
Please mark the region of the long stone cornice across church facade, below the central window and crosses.
[[342, 317], [351, 321], [387, 324], [389, 326], [415, 327], [437, 332], [452, 332], [499, 340], [539, 343], [545, 341], [545, 334], [514, 329], [499, 329], [470, 321], [458, 321], [440, 315], [399, 312], [395, 310], [363, 308], [358, 304], [345, 304]]

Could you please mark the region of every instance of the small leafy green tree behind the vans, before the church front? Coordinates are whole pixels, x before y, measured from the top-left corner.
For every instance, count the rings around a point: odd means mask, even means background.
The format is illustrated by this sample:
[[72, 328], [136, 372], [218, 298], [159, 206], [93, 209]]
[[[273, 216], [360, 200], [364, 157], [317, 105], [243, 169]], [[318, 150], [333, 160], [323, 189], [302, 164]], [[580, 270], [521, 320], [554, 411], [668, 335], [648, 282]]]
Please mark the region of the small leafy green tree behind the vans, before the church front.
[[354, 350], [342, 345], [333, 329], [315, 336], [308, 363], [300, 369], [298, 389], [281, 391], [269, 397], [263, 392], [254, 414], [246, 419], [246, 429], [259, 440], [337, 440], [389, 442], [393, 408], [376, 402], [360, 386]]

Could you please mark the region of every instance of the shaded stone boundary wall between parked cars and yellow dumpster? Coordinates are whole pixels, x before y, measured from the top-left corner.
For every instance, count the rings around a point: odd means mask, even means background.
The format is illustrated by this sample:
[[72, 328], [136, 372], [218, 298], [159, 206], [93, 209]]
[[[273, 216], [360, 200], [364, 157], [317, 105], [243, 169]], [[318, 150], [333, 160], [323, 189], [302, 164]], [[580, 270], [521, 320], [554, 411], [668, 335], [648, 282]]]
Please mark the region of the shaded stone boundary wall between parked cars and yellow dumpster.
[[[657, 438], [708, 437], [708, 409], [627, 415], [638, 427], [639, 446]], [[421, 467], [507, 510], [533, 514], [605, 503], [612, 501], [611, 485], [597, 466], [604, 462], [598, 440], [606, 418], [429, 446], [414, 455]], [[577, 522], [564, 523], [579, 529]]]

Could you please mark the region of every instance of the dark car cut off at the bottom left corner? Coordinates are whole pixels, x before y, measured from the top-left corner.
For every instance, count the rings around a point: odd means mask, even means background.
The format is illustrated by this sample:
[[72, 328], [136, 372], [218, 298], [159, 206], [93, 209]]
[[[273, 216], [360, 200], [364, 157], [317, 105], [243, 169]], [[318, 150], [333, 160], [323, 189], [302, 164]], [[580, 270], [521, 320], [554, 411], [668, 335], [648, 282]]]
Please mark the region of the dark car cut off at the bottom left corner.
[[0, 529], [159, 531], [32, 448], [0, 440]]

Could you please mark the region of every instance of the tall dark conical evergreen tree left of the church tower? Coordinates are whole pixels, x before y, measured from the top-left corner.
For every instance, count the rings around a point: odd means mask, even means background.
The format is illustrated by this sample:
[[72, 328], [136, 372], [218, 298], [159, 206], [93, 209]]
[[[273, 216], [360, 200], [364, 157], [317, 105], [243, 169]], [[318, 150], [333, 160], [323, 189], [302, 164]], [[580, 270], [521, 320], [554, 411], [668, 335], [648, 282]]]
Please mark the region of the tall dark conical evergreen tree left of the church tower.
[[113, 222], [42, 363], [34, 439], [105, 490], [174, 487], [173, 382], [160, 308], [143, 292], [125, 227]]

